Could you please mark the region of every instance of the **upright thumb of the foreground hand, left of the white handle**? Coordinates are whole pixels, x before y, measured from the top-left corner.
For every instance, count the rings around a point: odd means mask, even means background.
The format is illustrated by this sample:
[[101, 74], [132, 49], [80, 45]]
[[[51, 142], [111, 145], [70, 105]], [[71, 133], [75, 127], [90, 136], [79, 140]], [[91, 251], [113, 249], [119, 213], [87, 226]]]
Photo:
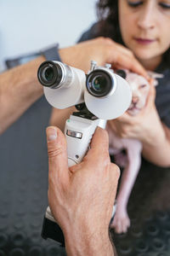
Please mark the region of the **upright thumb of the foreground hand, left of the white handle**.
[[48, 143], [48, 175], [54, 178], [68, 177], [68, 160], [65, 136], [59, 128], [49, 126], [46, 129]]

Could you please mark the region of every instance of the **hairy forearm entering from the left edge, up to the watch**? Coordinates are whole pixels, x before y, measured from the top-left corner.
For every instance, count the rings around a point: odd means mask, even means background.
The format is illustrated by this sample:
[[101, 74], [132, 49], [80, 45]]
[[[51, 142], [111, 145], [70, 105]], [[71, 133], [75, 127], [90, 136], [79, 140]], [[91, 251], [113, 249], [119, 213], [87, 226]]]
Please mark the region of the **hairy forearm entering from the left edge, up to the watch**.
[[0, 134], [42, 96], [37, 68], [43, 56], [0, 75]]

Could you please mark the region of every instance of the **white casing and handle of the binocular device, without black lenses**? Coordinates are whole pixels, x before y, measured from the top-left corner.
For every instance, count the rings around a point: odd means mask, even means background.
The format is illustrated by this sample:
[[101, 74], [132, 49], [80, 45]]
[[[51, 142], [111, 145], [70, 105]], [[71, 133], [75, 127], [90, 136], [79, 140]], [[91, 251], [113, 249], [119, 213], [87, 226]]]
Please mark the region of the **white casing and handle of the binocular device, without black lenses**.
[[[65, 73], [65, 67], [59, 61], [54, 61], [62, 66]], [[80, 163], [87, 153], [91, 138], [97, 126], [105, 129], [107, 119], [116, 119], [122, 115], [130, 106], [132, 101], [132, 92], [125, 79], [113, 73], [107, 67], [98, 67], [111, 74], [114, 83], [114, 89], [105, 97], [92, 96], [86, 88], [86, 75], [82, 70], [71, 67], [70, 83], [62, 81], [64, 86], [57, 89], [44, 87], [44, 95], [47, 101], [54, 108], [69, 108], [82, 102], [85, 102], [88, 110], [98, 119], [85, 119], [79, 116], [71, 115], [65, 123], [65, 137], [67, 142], [68, 166], [74, 166]], [[95, 69], [95, 67], [94, 67]], [[70, 79], [70, 78], [69, 78]], [[113, 207], [113, 214], [115, 206]], [[47, 208], [45, 218], [56, 223], [50, 208]]]

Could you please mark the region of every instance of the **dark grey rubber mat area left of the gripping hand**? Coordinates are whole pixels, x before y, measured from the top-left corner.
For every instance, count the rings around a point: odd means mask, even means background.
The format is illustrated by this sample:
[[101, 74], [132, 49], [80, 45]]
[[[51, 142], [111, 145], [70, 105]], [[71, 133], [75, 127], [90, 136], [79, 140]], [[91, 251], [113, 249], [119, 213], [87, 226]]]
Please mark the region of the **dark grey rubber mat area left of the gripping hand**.
[[0, 136], [0, 256], [64, 256], [41, 237], [48, 206], [45, 128], [51, 108], [42, 97]]

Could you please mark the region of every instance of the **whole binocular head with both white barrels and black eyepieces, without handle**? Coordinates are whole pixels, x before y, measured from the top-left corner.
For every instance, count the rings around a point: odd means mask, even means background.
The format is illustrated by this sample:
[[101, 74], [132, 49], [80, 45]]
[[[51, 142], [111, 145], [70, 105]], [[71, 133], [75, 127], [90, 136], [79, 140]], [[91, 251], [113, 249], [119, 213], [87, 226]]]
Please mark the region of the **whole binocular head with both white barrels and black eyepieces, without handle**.
[[99, 119], [115, 119], [130, 106], [132, 92], [125, 79], [113, 73], [109, 64], [98, 67], [95, 61], [86, 75], [81, 69], [59, 61], [44, 61], [37, 78], [44, 86], [48, 102], [59, 109], [85, 102]]

